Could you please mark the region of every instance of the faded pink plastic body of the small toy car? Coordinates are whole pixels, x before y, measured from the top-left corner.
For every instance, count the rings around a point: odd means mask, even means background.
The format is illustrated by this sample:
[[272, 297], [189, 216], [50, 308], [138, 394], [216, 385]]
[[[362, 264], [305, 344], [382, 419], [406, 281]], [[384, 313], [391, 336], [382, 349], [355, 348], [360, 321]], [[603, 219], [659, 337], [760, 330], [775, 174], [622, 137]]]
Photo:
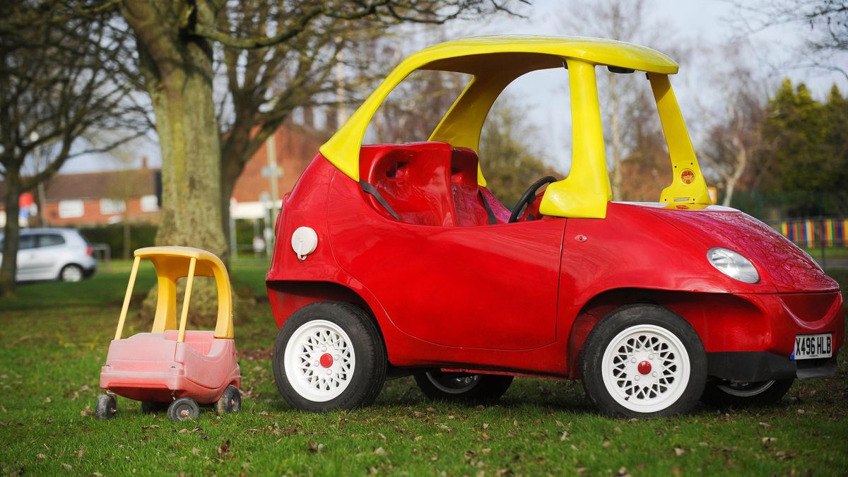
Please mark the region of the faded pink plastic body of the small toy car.
[[136, 401], [169, 402], [191, 397], [200, 404], [218, 401], [226, 386], [241, 385], [235, 340], [213, 331], [139, 333], [109, 345], [100, 387]]

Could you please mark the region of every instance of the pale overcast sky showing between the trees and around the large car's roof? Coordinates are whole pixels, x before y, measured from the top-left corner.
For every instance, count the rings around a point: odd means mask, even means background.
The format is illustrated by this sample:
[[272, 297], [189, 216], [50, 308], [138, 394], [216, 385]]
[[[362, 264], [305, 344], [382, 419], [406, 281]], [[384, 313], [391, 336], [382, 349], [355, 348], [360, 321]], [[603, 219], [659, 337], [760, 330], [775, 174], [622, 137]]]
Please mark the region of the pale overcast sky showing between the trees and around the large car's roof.
[[[843, 75], [828, 70], [797, 67], [804, 62], [798, 53], [808, 34], [803, 26], [777, 25], [754, 35], [744, 35], [744, 31], [738, 28], [738, 22], [733, 20], [739, 18], [739, 15], [728, 2], [648, 0], [647, 6], [650, 18], [661, 25], [658, 29], [661, 32], [656, 35], [658, 38], [655, 41], [662, 44], [645, 46], [661, 51], [683, 46], [686, 51], [682, 58], [674, 58], [681, 68], [678, 75], [672, 77], [672, 86], [678, 95], [683, 116], [694, 134], [701, 126], [699, 121], [704, 121], [701, 112], [709, 109], [715, 101], [718, 90], [711, 73], [715, 65], [722, 61], [722, 48], [726, 48], [725, 45], [730, 42], [742, 45], [745, 58], [767, 82], [769, 91], [773, 91], [782, 78], [789, 76], [795, 82], [805, 81], [817, 98], [825, 98], [834, 82], [843, 93], [848, 92], [848, 81]], [[578, 28], [563, 27], [562, 19], [571, 8], [574, 8], [573, 3], [567, 0], [534, 0], [531, 8], [523, 9], [526, 19], [501, 15], [484, 21], [463, 21], [449, 26], [448, 36], [590, 33], [579, 31]], [[421, 43], [423, 47], [438, 41], [428, 39], [426, 32], [418, 36], [410, 44]], [[848, 58], [845, 55], [839, 59], [834, 58], [832, 64], [848, 65]], [[570, 163], [567, 149], [570, 149], [571, 126], [566, 84], [564, 71], [550, 70], [528, 75], [508, 88], [510, 96], [517, 100], [519, 107], [527, 111], [528, 122], [538, 130], [538, 141], [545, 151], [550, 151], [547, 159], [561, 170], [566, 170]], [[62, 171], [112, 169], [126, 164], [138, 166], [141, 155], [148, 156], [148, 164], [151, 166], [159, 166], [160, 162], [158, 148], [150, 141], [135, 143], [117, 155], [124, 156], [124, 159], [81, 157], [70, 160]], [[127, 156], [136, 157], [127, 162]]]

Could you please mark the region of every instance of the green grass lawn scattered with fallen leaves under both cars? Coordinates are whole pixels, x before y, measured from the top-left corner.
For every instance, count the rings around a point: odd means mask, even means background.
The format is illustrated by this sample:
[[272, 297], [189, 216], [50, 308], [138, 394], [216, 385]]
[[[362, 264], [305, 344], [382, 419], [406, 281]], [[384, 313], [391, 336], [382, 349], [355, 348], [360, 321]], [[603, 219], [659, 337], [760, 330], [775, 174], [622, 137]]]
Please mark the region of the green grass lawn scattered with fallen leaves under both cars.
[[[264, 293], [265, 264], [237, 263], [240, 293]], [[832, 273], [848, 284], [848, 271]], [[82, 283], [36, 283], [0, 301], [0, 474], [848, 474], [848, 366], [795, 384], [778, 406], [646, 421], [602, 418], [580, 384], [516, 379], [496, 406], [424, 400], [410, 378], [373, 407], [293, 411], [276, 391], [276, 327], [243, 300], [236, 334], [242, 412], [171, 423], [119, 398], [98, 421], [100, 366], [128, 266]], [[142, 270], [137, 289], [153, 283]], [[142, 291], [143, 294], [143, 291]], [[132, 317], [125, 335], [149, 327]]]

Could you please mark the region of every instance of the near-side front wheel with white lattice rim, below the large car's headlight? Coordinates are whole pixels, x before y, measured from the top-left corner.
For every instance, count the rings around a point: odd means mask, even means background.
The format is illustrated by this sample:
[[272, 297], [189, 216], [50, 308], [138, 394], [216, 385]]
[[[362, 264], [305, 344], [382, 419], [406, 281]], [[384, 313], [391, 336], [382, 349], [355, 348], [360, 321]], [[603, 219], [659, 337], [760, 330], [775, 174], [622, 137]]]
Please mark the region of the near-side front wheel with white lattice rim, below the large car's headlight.
[[706, 353], [686, 320], [654, 305], [624, 306], [589, 333], [583, 387], [600, 412], [650, 418], [689, 412], [706, 384]]

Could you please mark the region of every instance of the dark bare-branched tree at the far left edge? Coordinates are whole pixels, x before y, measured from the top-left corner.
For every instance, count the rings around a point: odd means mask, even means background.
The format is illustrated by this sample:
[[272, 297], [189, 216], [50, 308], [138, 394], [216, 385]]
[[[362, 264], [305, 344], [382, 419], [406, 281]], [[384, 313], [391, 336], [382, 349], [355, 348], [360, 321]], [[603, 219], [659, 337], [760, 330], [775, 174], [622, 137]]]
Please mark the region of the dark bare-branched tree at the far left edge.
[[[20, 194], [70, 158], [108, 150], [148, 126], [133, 101], [127, 36], [97, 7], [24, 3], [0, 19], [0, 174], [3, 265], [0, 297], [14, 293]], [[100, 134], [93, 139], [94, 132]], [[26, 174], [34, 154], [41, 165]]]

